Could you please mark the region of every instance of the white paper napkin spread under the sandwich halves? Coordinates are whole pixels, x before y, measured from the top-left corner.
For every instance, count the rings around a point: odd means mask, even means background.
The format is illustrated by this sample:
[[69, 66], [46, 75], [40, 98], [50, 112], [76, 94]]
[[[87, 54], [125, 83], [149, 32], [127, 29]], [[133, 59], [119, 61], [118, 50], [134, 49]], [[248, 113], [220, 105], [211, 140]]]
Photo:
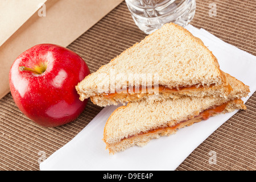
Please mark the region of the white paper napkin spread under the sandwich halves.
[[[256, 57], [203, 29], [191, 25], [186, 28], [208, 46], [222, 71], [250, 86], [250, 97], [256, 90]], [[44, 160], [40, 170], [175, 170], [200, 143], [237, 112], [220, 114], [184, 127], [169, 137], [151, 140], [147, 146], [135, 146], [109, 155], [102, 141], [103, 130], [117, 107], [105, 107], [75, 138]], [[205, 152], [209, 151], [206, 149]]]

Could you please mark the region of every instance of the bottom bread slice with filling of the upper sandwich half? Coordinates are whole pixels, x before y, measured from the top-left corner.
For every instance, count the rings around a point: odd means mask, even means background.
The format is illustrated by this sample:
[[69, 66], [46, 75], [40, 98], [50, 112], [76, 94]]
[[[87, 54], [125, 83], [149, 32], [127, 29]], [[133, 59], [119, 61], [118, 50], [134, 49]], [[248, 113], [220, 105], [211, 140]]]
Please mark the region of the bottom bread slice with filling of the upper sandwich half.
[[[135, 90], [133, 88], [133, 90]], [[154, 90], [154, 89], [153, 89]], [[193, 96], [193, 97], [227, 97], [231, 86], [228, 85], [218, 85], [218, 86], [189, 86], [179, 89], [169, 89], [165, 86], [159, 86], [156, 92], [139, 92], [139, 93], [113, 93], [113, 94], [100, 94], [98, 96], [90, 97], [90, 100], [98, 106], [108, 106], [108, 105], [118, 105], [120, 103], [125, 104], [126, 102], [138, 102], [138, 101], [164, 101], [169, 98], [176, 99], [182, 96]], [[157, 94], [156, 94], [157, 93]]]

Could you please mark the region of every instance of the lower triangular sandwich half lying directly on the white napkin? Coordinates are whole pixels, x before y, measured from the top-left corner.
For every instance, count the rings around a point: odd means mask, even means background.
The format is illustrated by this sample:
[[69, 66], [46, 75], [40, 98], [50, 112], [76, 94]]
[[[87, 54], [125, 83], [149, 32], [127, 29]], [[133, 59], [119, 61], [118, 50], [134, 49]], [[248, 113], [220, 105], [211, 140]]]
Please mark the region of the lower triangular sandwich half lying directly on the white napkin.
[[208, 119], [210, 116], [246, 109], [241, 100], [250, 92], [236, 78], [226, 74], [232, 91], [228, 97], [188, 97], [176, 100], [130, 102], [118, 107], [106, 122], [104, 142], [110, 153], [134, 145], [143, 146], [160, 136], [174, 134], [184, 126]]

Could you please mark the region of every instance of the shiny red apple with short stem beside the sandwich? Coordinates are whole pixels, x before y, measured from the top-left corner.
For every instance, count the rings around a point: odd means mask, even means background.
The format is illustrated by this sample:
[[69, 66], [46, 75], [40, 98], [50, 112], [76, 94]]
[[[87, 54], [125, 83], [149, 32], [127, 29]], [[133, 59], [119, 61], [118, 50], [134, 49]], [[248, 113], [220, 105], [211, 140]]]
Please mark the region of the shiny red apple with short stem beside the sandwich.
[[79, 100], [75, 86], [89, 73], [75, 52], [39, 44], [23, 52], [11, 66], [11, 95], [22, 113], [39, 125], [64, 125], [75, 120], [87, 104], [87, 100]]

